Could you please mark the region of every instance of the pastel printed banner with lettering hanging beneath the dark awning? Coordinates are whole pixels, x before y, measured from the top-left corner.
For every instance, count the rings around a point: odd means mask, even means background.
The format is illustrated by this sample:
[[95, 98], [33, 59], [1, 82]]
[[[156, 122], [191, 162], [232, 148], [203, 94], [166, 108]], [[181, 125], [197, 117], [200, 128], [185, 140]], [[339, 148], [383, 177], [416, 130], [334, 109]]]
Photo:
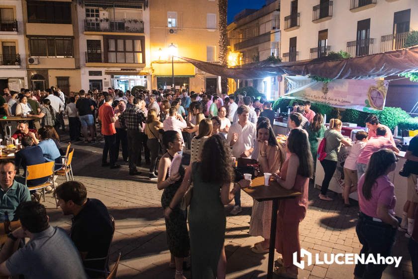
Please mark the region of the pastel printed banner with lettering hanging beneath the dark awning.
[[285, 98], [324, 103], [358, 111], [383, 110], [388, 81], [337, 79], [329, 83], [303, 76], [285, 76]]

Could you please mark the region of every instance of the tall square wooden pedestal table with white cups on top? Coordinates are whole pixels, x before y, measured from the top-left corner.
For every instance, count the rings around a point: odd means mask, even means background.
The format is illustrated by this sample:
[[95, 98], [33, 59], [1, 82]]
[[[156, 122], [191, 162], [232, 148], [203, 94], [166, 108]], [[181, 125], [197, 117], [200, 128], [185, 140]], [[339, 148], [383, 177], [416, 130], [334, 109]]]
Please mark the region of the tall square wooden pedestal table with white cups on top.
[[271, 227], [270, 227], [270, 248], [269, 248], [269, 265], [267, 278], [273, 278], [273, 262], [274, 249], [276, 244], [276, 226], [277, 226], [277, 207], [281, 199], [294, 198], [301, 195], [301, 192], [288, 190], [279, 185], [275, 180], [270, 180], [269, 186], [264, 186], [264, 176], [256, 177], [252, 180], [251, 187], [243, 188], [244, 192], [257, 201], [273, 201], [271, 211]]

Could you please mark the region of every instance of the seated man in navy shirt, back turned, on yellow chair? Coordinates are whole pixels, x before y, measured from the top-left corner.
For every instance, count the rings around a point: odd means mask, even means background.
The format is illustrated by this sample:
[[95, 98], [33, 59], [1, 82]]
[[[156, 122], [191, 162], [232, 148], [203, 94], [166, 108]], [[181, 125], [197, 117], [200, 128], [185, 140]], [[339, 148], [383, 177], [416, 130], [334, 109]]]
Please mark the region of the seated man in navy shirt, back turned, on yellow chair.
[[[27, 166], [30, 165], [37, 165], [42, 164], [45, 162], [45, 159], [42, 154], [41, 147], [37, 145], [33, 145], [33, 139], [26, 136], [22, 139], [22, 147], [23, 149], [16, 152], [16, 157], [14, 160], [14, 164], [16, 168], [18, 169], [20, 166], [23, 167], [23, 169], [26, 169]], [[42, 184], [46, 181], [48, 181], [49, 176], [37, 178], [37, 179], [30, 179], [27, 181], [28, 186], [35, 186]], [[16, 180], [20, 183], [25, 182], [25, 178], [16, 176]], [[49, 186], [51, 187], [51, 186]], [[52, 189], [52, 187], [51, 187]], [[47, 191], [50, 189], [47, 188]]]

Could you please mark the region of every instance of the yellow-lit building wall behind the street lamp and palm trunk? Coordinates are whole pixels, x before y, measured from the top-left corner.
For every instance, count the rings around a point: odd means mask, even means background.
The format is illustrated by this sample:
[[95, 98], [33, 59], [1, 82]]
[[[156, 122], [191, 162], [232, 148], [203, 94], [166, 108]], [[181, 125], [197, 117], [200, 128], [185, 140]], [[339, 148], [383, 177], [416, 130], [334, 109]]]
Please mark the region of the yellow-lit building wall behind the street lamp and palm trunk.
[[[150, 10], [150, 56], [151, 68], [153, 70], [151, 82], [152, 88], [157, 87], [157, 76], [171, 76], [171, 59], [167, 53], [168, 46], [173, 43], [177, 46], [178, 56], [207, 60], [207, 46], [214, 46], [214, 57], [218, 57], [219, 13], [217, 1], [211, 0], [181, 0], [149, 1]], [[167, 12], [177, 12], [178, 27], [174, 34], [169, 33], [167, 26]], [[191, 14], [193, 13], [193, 15]], [[207, 29], [207, 13], [216, 15], [215, 29]], [[161, 51], [160, 51], [161, 49]], [[158, 62], [157, 62], [158, 61]], [[175, 76], [190, 76], [190, 91], [200, 91], [206, 87], [205, 79], [214, 77], [210, 74], [203, 74], [197, 71], [189, 63], [180, 63], [176, 58]], [[161, 64], [165, 64], [162, 66]], [[218, 88], [219, 89], [219, 88]]]

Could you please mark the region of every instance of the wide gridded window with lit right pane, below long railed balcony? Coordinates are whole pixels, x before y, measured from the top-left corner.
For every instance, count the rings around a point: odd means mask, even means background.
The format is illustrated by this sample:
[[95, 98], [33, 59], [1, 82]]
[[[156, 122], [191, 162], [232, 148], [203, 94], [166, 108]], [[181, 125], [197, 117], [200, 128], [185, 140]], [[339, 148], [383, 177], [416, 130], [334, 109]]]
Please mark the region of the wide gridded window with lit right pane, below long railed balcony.
[[109, 38], [107, 39], [108, 63], [143, 62], [142, 41], [140, 39]]

